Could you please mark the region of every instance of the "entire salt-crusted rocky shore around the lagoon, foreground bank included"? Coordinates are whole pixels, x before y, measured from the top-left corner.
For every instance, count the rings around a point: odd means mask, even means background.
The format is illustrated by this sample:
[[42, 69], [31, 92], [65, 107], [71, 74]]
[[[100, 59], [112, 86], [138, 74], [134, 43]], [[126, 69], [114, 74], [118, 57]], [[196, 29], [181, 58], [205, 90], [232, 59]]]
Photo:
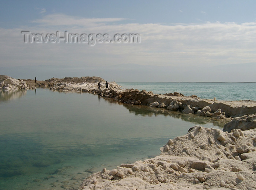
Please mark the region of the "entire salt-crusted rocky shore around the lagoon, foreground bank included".
[[[98, 82], [102, 88], [98, 90]], [[256, 189], [256, 102], [222, 101], [159, 95], [121, 89], [100, 77], [65, 77], [45, 81], [0, 76], [0, 90], [44, 87], [57, 91], [89, 92], [138, 106], [226, 120], [223, 130], [194, 126], [170, 139], [154, 158], [120, 167], [102, 168], [84, 180], [80, 189]]]

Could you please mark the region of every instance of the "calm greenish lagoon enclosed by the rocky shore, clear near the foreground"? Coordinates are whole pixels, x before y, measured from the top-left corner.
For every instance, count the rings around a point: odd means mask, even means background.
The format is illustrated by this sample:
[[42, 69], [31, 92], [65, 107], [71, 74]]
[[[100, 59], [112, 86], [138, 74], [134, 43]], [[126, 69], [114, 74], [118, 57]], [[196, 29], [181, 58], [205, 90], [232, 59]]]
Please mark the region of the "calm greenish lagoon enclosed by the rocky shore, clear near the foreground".
[[103, 167], [157, 156], [169, 138], [220, 121], [87, 93], [0, 91], [0, 190], [76, 189]]

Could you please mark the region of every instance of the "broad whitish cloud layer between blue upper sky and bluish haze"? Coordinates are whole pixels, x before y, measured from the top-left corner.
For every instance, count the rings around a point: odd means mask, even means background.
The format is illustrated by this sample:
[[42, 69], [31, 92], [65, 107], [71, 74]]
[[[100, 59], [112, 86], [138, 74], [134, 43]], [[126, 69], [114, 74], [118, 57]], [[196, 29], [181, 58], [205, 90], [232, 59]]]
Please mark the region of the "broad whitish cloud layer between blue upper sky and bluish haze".
[[[118, 24], [123, 18], [80, 18], [52, 14], [34, 20], [34, 27], [0, 28], [0, 66], [140, 65], [210, 66], [256, 62], [256, 23]], [[111, 22], [109, 24], [109, 22]], [[23, 43], [20, 31], [48, 34], [138, 33], [141, 43]]]

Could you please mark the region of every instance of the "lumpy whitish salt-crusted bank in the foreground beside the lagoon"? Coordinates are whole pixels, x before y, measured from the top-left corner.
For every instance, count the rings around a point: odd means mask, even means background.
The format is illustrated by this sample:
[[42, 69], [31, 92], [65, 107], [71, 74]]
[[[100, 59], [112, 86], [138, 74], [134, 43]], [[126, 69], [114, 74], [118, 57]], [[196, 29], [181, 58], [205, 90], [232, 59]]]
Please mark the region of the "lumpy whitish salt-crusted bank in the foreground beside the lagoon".
[[170, 139], [161, 155], [103, 168], [82, 189], [256, 189], [256, 129], [230, 133], [195, 126]]

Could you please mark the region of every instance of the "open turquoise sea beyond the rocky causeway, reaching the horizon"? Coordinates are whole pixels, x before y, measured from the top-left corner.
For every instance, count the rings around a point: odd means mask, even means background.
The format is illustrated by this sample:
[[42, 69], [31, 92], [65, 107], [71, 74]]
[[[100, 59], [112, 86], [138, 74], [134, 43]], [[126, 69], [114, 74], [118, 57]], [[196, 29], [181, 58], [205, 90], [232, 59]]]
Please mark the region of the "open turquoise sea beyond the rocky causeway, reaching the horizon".
[[118, 83], [123, 88], [137, 88], [155, 94], [179, 92], [185, 96], [217, 100], [256, 100], [256, 83]]

